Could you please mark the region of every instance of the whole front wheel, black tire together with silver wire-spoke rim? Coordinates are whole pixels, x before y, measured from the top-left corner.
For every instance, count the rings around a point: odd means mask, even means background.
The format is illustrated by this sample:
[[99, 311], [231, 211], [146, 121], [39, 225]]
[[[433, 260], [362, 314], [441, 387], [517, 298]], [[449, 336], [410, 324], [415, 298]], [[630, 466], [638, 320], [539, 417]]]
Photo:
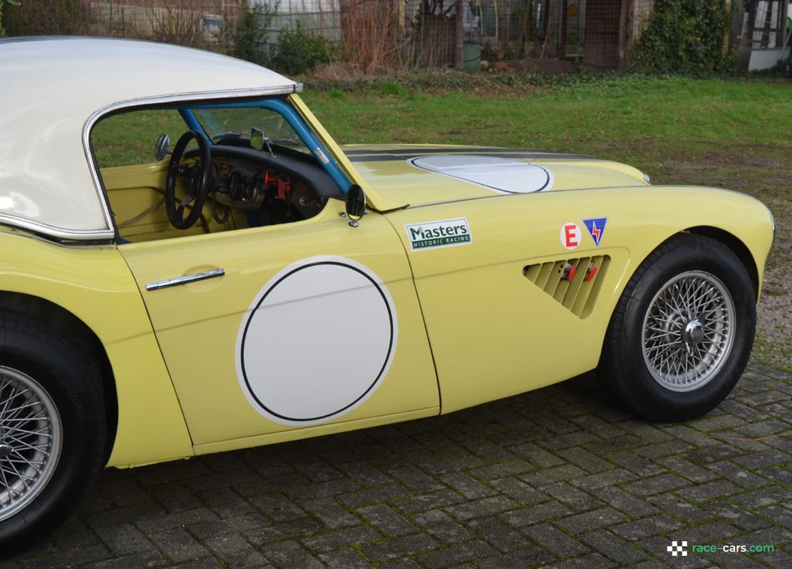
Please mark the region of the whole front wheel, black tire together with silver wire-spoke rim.
[[598, 375], [650, 421], [699, 417], [740, 379], [755, 330], [756, 296], [740, 259], [714, 239], [675, 235], [630, 278]]

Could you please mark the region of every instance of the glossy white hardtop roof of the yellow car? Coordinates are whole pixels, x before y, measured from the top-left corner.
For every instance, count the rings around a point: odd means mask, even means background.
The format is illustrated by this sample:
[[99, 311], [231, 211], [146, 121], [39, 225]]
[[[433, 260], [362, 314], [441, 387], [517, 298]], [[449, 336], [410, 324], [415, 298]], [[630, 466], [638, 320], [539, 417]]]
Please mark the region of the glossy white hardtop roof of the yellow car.
[[63, 239], [113, 236], [89, 128], [131, 105], [294, 93], [253, 63], [147, 41], [0, 40], [0, 223]]

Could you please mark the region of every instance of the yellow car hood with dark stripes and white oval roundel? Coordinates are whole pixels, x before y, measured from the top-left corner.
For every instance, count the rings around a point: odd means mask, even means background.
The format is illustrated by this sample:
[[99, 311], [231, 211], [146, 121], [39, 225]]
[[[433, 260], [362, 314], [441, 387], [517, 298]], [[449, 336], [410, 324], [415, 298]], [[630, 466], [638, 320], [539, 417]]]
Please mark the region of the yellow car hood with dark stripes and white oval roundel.
[[515, 193], [648, 185], [640, 170], [590, 156], [422, 144], [341, 148], [377, 193], [412, 206]]

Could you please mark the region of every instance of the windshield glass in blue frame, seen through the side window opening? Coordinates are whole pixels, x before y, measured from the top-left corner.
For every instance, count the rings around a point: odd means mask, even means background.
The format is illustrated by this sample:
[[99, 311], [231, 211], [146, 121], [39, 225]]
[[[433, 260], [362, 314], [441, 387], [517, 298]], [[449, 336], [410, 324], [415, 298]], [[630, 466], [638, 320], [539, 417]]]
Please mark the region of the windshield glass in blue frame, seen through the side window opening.
[[[260, 146], [261, 132], [263, 132], [265, 149], [268, 140], [274, 146], [289, 147], [310, 154], [297, 133], [276, 111], [260, 107], [190, 110], [212, 143], [248, 146], [251, 134], [258, 132], [257, 139]], [[253, 143], [253, 146], [257, 144]]]

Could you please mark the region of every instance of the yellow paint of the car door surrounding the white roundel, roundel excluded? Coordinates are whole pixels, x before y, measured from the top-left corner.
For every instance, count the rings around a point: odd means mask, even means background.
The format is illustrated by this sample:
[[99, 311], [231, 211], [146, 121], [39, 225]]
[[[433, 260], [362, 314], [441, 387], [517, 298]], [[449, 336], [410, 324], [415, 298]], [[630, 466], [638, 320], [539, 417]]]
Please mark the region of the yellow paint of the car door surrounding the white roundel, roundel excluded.
[[[143, 291], [197, 453], [439, 412], [432, 356], [401, 243], [382, 216], [352, 228], [342, 211], [340, 200], [330, 200], [310, 220], [120, 246]], [[287, 426], [262, 417], [246, 400], [234, 369], [234, 342], [264, 284], [284, 266], [318, 254], [354, 259], [383, 279], [398, 312], [398, 346], [383, 384], [363, 405], [332, 426]], [[217, 268], [224, 277], [145, 290], [151, 281]], [[354, 318], [354, 307], [350, 312]], [[349, 366], [353, 353], [350, 346]], [[306, 346], [304, 357], [310, 356]]]

